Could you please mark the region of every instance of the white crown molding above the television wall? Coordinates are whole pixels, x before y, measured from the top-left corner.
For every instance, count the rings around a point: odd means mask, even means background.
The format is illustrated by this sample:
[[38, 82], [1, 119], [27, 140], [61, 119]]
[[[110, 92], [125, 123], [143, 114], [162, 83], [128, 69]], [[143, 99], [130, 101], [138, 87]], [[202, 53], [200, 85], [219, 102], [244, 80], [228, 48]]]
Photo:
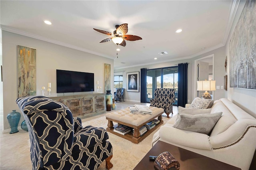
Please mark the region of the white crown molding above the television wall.
[[37, 40], [42, 40], [42, 41], [45, 41], [45, 42], [50, 42], [50, 43], [54, 43], [54, 44], [57, 44], [57, 45], [62, 45], [64, 47], [68, 47], [68, 48], [72, 48], [72, 49], [77, 49], [79, 51], [84, 51], [86, 53], [91, 53], [91, 54], [94, 54], [94, 55], [99, 55], [101, 57], [106, 57], [106, 58], [113, 59], [113, 57], [110, 57], [108, 55], [104, 55], [102, 53], [98, 53], [98, 52], [95, 52], [95, 51], [91, 51], [89, 49], [85, 49], [85, 48], [77, 47], [75, 45], [70, 45], [68, 43], [52, 40], [50, 38], [45, 38], [45, 37], [42, 37], [42, 36], [38, 36], [36, 34], [31, 34], [29, 32], [24, 32], [24, 31], [17, 30], [15, 28], [11, 28], [11, 27], [8, 27], [8, 26], [4, 26], [4, 25], [0, 25], [0, 26], [1, 26], [1, 29], [3, 31], [8, 31], [8, 32], [12, 32], [12, 33], [15, 33], [15, 34], [20, 34], [22, 36], [26, 36], [26, 37], [30, 37], [30, 38], [35, 38]]

